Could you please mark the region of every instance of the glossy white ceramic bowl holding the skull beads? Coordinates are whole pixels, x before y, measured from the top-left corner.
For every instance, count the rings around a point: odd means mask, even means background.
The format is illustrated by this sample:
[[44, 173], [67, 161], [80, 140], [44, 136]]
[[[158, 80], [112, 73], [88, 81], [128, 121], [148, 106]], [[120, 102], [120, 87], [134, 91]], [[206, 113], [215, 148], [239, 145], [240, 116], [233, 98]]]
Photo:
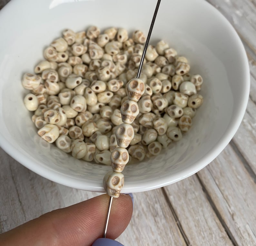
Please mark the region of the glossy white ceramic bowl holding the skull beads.
[[[33, 72], [43, 49], [65, 28], [102, 30], [117, 26], [145, 35], [156, 1], [12, 0], [0, 12], [0, 144], [21, 164], [57, 183], [103, 192], [110, 166], [86, 163], [65, 154], [36, 133], [25, 109], [24, 72]], [[206, 1], [162, 0], [151, 43], [166, 40], [186, 56], [192, 73], [204, 79], [204, 103], [192, 129], [180, 142], [140, 164], [125, 167], [122, 192], [172, 184], [210, 163], [239, 127], [249, 95], [249, 69], [243, 45], [231, 24]], [[223, 165], [225, 165], [223, 163]]]

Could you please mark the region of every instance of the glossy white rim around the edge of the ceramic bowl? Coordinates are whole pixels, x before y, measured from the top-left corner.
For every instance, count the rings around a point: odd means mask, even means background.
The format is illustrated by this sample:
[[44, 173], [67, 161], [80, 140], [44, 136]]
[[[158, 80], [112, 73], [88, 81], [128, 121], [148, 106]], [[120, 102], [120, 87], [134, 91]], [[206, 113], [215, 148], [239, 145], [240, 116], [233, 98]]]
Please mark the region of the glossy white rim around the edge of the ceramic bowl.
[[[170, 174], [169, 176], [163, 177], [161, 179], [157, 180], [151, 180], [150, 182], [145, 182], [145, 185], [138, 187], [137, 184], [129, 184], [129, 187], [123, 187], [122, 193], [130, 193], [130, 192], [142, 192], [142, 191], [148, 191], [156, 188], [160, 188], [172, 183], [175, 183], [177, 181], [180, 181], [186, 177], [189, 177], [199, 170], [201, 170], [203, 167], [207, 166], [212, 160], [214, 160], [221, 152], [222, 150], [228, 145], [228, 143], [231, 141], [232, 137], [235, 135], [236, 131], [238, 130], [242, 118], [245, 113], [245, 109], [247, 107], [248, 98], [249, 98], [249, 92], [250, 92], [250, 69], [249, 69], [249, 63], [247, 59], [247, 55], [245, 52], [245, 48], [242, 44], [241, 39], [239, 38], [238, 34], [236, 33], [233, 26], [229, 23], [229, 21], [211, 4], [209, 4], [206, 1], [199, 1], [194, 0], [195, 2], [200, 2], [201, 5], [205, 5], [206, 8], [209, 8], [210, 11], [215, 12], [215, 14], [222, 20], [223, 25], [226, 25], [227, 29], [233, 34], [234, 42], [239, 46], [239, 49], [237, 50], [237, 55], [241, 59], [241, 73], [243, 74], [242, 77], [244, 77], [244, 87], [243, 91], [241, 93], [241, 104], [239, 105], [239, 108], [236, 110], [236, 113], [233, 117], [233, 121], [230, 123], [229, 128], [226, 130], [225, 134], [219, 139], [217, 144], [211, 149], [211, 151], [205, 153], [205, 155], [196, 163], [192, 164], [189, 167], [186, 167], [183, 170], [180, 170], [176, 172], [175, 174]], [[11, 8], [13, 5], [15, 5], [16, 2], [21, 2], [20, 0], [12, 0], [10, 1], [5, 7], [0, 11], [0, 19], [3, 12], [8, 11], [9, 8]], [[27, 158], [19, 149], [17, 149], [15, 146], [13, 146], [10, 142], [8, 142], [8, 139], [6, 139], [0, 132], [0, 147], [12, 156], [17, 162], [21, 163], [23, 166], [27, 167], [31, 171], [35, 172], [38, 175], [41, 175], [51, 181], [54, 181], [59, 184], [63, 184], [66, 186], [70, 186], [76, 189], [81, 190], [87, 190], [87, 191], [93, 191], [93, 192], [105, 192], [103, 188], [103, 184], [101, 186], [99, 183], [86, 183], [85, 180], [78, 179], [74, 180], [73, 177], [59, 173], [47, 166], [35, 166], [32, 159]], [[15, 149], [15, 151], [14, 151]], [[50, 172], [49, 172], [50, 171]]]

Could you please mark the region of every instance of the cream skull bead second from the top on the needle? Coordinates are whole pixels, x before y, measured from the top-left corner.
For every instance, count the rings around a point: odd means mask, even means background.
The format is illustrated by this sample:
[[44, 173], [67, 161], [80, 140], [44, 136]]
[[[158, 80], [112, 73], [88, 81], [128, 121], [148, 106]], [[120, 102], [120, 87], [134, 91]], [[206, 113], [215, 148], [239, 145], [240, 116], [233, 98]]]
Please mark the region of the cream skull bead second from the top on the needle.
[[137, 102], [134, 102], [132, 100], [126, 100], [121, 109], [121, 115], [122, 115], [122, 121], [123, 123], [132, 124], [134, 119], [139, 114], [139, 106]]

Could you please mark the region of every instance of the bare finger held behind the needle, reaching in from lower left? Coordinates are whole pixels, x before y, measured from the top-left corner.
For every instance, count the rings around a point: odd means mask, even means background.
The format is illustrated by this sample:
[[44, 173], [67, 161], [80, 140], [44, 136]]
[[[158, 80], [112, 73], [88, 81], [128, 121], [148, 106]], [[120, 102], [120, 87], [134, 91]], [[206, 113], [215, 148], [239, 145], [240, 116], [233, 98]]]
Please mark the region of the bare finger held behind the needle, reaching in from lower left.
[[[46, 213], [0, 235], [0, 245], [92, 245], [103, 235], [108, 203], [109, 196], [103, 194]], [[117, 238], [129, 224], [132, 213], [130, 195], [120, 194], [119, 198], [113, 198], [107, 237]]]

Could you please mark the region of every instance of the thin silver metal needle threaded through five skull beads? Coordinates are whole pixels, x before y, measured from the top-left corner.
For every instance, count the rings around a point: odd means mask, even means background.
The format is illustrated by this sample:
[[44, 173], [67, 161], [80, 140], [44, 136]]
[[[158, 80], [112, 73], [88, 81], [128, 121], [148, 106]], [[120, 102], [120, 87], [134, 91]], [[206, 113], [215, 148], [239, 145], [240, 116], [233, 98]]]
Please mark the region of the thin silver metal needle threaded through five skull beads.
[[[146, 51], [147, 51], [149, 39], [150, 39], [152, 30], [153, 30], [153, 26], [154, 26], [154, 23], [155, 23], [155, 18], [156, 18], [156, 14], [157, 14], [160, 2], [161, 2], [161, 0], [158, 0], [157, 4], [156, 4], [155, 12], [154, 12], [154, 15], [153, 15], [153, 18], [152, 18], [152, 22], [151, 22], [151, 25], [150, 25], [150, 28], [149, 28], [149, 31], [148, 31], [148, 36], [147, 36], [146, 43], [145, 43], [145, 46], [144, 46], [143, 54], [142, 54], [142, 57], [141, 57], [140, 66], [138, 68], [137, 78], [140, 78], [140, 75], [141, 75], [141, 69], [142, 69], [142, 66], [143, 66], [143, 61], [144, 61], [144, 58], [145, 58], [145, 54], [146, 54]], [[105, 229], [104, 229], [104, 233], [103, 233], [104, 238], [106, 238], [106, 234], [107, 234], [107, 228], [108, 228], [109, 215], [110, 215], [110, 211], [111, 211], [112, 201], [113, 201], [113, 197], [110, 196], [109, 204], [108, 204], [108, 214], [107, 214]]]

